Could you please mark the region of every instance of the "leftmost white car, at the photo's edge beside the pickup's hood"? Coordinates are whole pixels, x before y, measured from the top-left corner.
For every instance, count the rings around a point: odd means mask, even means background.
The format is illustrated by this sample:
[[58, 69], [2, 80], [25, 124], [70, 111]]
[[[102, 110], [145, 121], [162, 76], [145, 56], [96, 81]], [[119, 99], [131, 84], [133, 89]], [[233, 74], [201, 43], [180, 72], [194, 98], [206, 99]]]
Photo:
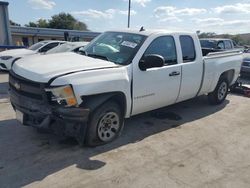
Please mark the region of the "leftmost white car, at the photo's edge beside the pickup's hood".
[[65, 41], [41, 41], [28, 49], [14, 49], [0, 52], [0, 70], [10, 70], [13, 63], [25, 56], [46, 53], [48, 50], [65, 43]]

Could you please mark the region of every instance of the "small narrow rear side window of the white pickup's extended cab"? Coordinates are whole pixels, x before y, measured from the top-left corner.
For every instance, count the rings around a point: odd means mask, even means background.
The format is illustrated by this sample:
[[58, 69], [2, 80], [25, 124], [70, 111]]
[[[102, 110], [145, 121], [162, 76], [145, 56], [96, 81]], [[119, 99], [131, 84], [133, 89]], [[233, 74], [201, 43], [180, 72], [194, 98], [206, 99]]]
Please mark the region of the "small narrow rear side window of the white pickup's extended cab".
[[188, 35], [180, 36], [183, 63], [192, 62], [196, 58], [194, 40]]

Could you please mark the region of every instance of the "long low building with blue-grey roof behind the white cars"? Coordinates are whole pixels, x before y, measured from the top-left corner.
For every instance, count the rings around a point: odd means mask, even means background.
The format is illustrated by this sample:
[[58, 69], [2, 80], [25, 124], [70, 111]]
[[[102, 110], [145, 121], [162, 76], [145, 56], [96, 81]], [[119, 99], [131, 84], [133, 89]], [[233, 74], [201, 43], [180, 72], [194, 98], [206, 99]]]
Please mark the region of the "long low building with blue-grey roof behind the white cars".
[[91, 41], [99, 32], [50, 29], [37, 27], [10, 27], [13, 45], [30, 46], [43, 40]]

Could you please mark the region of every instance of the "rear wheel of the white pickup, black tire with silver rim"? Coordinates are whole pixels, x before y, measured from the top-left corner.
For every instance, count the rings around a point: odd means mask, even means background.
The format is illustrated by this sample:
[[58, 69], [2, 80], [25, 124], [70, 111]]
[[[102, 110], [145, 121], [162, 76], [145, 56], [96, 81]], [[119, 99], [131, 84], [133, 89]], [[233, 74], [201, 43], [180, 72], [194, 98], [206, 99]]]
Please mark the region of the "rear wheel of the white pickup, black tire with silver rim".
[[208, 101], [210, 104], [218, 105], [224, 102], [228, 94], [228, 80], [224, 77], [219, 79], [215, 90], [208, 94]]

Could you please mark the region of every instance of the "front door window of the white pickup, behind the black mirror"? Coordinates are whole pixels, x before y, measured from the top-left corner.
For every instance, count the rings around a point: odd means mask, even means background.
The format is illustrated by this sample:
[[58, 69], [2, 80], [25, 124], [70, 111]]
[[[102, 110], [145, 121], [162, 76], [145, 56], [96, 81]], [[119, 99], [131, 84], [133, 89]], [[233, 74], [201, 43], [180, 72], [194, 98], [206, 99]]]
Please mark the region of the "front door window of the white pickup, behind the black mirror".
[[157, 54], [164, 58], [165, 65], [177, 64], [177, 55], [174, 38], [163, 36], [156, 38], [147, 48], [145, 55]]

